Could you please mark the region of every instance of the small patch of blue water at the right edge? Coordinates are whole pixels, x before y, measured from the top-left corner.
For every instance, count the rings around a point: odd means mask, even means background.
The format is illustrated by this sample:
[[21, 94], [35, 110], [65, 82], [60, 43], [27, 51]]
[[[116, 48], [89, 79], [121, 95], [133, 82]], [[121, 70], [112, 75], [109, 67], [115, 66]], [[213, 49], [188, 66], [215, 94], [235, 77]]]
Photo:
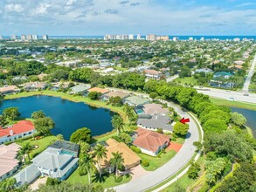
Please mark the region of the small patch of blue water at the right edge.
[[253, 136], [256, 138], [256, 111], [249, 110], [249, 109], [241, 109], [237, 107], [231, 107], [232, 112], [238, 112], [243, 114], [246, 119], [246, 126], [251, 127], [253, 130]]

